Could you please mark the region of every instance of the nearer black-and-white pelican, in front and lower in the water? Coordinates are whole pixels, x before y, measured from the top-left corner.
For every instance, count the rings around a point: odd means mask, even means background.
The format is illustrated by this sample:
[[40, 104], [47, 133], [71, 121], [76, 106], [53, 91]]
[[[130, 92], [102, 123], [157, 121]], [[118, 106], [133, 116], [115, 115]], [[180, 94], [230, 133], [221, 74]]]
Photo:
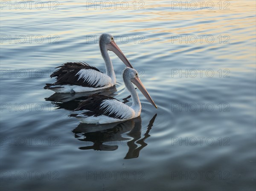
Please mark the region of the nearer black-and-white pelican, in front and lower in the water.
[[140, 116], [141, 103], [132, 83], [134, 83], [147, 100], [157, 108], [134, 68], [125, 68], [122, 76], [126, 88], [131, 93], [131, 107], [113, 97], [93, 94], [88, 96], [87, 99], [80, 103], [75, 109], [75, 111], [85, 110], [85, 112], [82, 114], [70, 114], [70, 117], [76, 117], [82, 123], [105, 124], [130, 120]]

